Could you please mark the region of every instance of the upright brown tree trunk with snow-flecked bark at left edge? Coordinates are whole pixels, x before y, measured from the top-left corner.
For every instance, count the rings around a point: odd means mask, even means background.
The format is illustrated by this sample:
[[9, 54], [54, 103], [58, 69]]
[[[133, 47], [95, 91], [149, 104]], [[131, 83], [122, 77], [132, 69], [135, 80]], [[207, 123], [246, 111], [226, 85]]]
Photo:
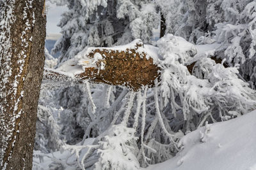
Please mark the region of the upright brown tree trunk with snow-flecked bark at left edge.
[[44, 70], [44, 0], [0, 2], [0, 169], [31, 169]]

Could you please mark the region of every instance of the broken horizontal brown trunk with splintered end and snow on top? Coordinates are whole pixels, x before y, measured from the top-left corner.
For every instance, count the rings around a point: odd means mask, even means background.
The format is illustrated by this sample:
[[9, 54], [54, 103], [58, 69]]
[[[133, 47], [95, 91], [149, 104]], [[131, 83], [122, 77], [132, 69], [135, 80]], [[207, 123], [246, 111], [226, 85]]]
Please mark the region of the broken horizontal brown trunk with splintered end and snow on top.
[[159, 78], [160, 68], [154, 63], [143, 47], [141, 41], [137, 41], [129, 48], [89, 48], [82, 52], [83, 58], [77, 62], [70, 62], [66, 67], [83, 67], [82, 73], [70, 74], [45, 69], [44, 80], [76, 81], [84, 80], [93, 83], [106, 83], [109, 85], [124, 85], [132, 90], [138, 90], [142, 86], [154, 86], [154, 80]]

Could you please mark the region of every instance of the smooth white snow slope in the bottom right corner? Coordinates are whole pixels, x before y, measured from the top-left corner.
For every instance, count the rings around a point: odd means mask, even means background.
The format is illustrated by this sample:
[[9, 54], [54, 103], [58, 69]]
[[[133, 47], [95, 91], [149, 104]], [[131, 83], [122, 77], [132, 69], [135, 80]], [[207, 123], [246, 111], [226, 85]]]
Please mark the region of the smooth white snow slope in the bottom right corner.
[[255, 170], [256, 110], [218, 122], [182, 138], [184, 149], [175, 157], [147, 170]]

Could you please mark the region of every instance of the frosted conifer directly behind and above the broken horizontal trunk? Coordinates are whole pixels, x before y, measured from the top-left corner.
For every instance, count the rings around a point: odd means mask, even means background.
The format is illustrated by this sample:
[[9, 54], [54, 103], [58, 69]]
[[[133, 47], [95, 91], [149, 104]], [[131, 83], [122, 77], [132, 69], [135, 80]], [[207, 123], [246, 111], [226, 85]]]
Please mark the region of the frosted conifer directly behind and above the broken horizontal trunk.
[[149, 2], [67, 1], [69, 10], [59, 23], [62, 37], [53, 49], [61, 52], [59, 63], [86, 46], [124, 45], [136, 38], [150, 43], [158, 19], [154, 4]]

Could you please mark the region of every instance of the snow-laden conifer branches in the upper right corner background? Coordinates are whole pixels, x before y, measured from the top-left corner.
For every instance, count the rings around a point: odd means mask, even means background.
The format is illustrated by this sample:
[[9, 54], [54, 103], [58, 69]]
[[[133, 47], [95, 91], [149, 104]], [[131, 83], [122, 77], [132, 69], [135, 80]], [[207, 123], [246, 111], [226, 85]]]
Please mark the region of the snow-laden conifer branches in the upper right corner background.
[[156, 2], [164, 14], [166, 32], [196, 44], [221, 43], [213, 56], [226, 59], [229, 66], [242, 64], [241, 78], [255, 89], [255, 74], [246, 69], [255, 67], [251, 62], [255, 59], [254, 1], [172, 1], [169, 8], [164, 0]]

